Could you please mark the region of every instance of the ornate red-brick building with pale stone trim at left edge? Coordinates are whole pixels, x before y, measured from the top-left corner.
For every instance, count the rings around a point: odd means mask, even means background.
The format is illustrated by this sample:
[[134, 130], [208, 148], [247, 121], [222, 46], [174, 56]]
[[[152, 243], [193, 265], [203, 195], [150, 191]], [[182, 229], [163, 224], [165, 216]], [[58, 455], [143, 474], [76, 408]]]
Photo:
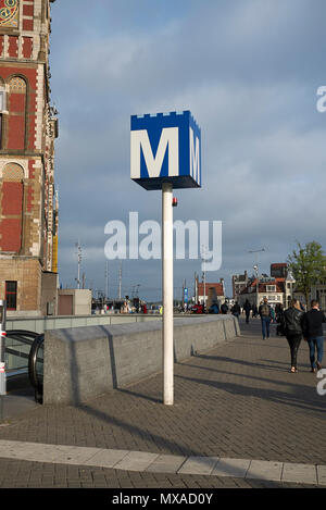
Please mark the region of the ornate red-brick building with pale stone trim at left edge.
[[0, 0], [0, 299], [7, 299], [9, 315], [45, 314], [47, 303], [55, 301], [48, 278], [55, 287], [53, 1]]

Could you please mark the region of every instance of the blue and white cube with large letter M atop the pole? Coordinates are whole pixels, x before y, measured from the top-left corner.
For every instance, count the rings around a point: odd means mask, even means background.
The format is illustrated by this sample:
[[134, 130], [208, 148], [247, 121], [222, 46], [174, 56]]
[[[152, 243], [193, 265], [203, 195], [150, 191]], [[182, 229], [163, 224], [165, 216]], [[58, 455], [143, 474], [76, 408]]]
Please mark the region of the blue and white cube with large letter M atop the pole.
[[201, 187], [201, 135], [189, 111], [131, 116], [130, 177], [146, 189]]

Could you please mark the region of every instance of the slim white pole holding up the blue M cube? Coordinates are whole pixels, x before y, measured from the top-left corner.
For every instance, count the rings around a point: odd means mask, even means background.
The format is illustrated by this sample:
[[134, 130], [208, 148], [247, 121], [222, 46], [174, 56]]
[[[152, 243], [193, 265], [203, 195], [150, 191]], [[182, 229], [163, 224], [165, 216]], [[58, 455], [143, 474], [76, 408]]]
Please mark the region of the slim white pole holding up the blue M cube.
[[174, 400], [173, 353], [173, 190], [162, 184], [162, 277], [163, 277], [163, 402]]

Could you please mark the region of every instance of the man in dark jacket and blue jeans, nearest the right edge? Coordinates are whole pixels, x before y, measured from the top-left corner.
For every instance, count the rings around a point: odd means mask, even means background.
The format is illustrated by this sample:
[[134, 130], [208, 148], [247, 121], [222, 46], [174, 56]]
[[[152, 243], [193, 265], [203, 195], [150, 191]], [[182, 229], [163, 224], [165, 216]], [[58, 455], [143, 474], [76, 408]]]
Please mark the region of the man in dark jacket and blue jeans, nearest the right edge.
[[[319, 303], [315, 299], [311, 302], [311, 310], [304, 314], [303, 333], [310, 350], [311, 371], [316, 372], [322, 369], [324, 333], [323, 322], [326, 322], [324, 312], [319, 310]], [[317, 350], [317, 361], [315, 362], [315, 351]]]

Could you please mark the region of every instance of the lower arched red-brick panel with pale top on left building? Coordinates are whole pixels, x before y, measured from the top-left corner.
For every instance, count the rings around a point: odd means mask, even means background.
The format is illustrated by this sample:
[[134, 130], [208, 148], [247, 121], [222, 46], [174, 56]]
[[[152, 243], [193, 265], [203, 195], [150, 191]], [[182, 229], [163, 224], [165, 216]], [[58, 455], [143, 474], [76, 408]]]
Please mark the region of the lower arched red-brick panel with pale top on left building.
[[0, 189], [0, 251], [18, 253], [22, 248], [24, 170], [9, 163]]

